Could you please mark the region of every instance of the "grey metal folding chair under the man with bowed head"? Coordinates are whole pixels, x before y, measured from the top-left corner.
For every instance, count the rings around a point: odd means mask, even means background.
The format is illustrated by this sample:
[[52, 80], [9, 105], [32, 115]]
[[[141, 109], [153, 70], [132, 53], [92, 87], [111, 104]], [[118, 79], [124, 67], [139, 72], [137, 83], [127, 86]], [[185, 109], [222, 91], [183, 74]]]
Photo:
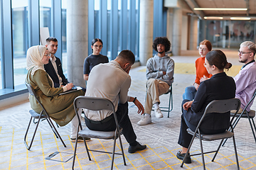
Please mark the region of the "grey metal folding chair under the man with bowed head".
[[[80, 135], [85, 143], [85, 149], [88, 155], [88, 159], [91, 161], [89, 151], [91, 152], [102, 152], [102, 153], [107, 153], [107, 154], [112, 154], [112, 164], [111, 164], [111, 169], [113, 169], [113, 164], [114, 164], [114, 154], [120, 154], [120, 153], [115, 153], [115, 145], [116, 145], [116, 140], [119, 138], [120, 142], [120, 147], [122, 151], [122, 157], [124, 161], [124, 165], [126, 165], [125, 158], [124, 158], [124, 149], [122, 147], [122, 140], [121, 140], [121, 132], [122, 130], [119, 128], [119, 124], [117, 122], [117, 115], [114, 111], [114, 105], [113, 103], [107, 99], [107, 98], [97, 98], [97, 97], [87, 97], [87, 96], [78, 96], [74, 100], [74, 108], [75, 108], [75, 113], [77, 114], [78, 117], [78, 131], [79, 128], [81, 129], [80, 132], [77, 132], [76, 140], [75, 140], [75, 150], [74, 150], [74, 156], [73, 156], [73, 165], [72, 169], [74, 169], [75, 165], [75, 154], [76, 154], [76, 149], [78, 145], [78, 135]], [[103, 131], [96, 131], [96, 130], [90, 130], [89, 128], [82, 129], [81, 121], [78, 115], [78, 109], [81, 108], [86, 108], [91, 111], [102, 111], [102, 110], [109, 110], [112, 111], [114, 114], [114, 120], [117, 125], [117, 128], [115, 131], [112, 132], [103, 132]], [[91, 138], [97, 138], [97, 139], [105, 139], [105, 140], [114, 140], [114, 145], [113, 145], [113, 151], [112, 152], [104, 152], [104, 151], [99, 151], [99, 150], [92, 150], [88, 149], [87, 143], [85, 141], [85, 137], [91, 137]]]

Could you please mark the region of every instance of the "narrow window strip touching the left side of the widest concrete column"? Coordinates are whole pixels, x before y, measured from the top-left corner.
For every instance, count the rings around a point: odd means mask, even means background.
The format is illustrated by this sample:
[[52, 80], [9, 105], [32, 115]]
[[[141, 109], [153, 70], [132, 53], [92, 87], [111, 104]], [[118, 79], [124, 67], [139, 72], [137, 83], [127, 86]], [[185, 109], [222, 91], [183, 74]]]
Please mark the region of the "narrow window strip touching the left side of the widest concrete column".
[[62, 67], [63, 67], [63, 73], [65, 74], [65, 77], [68, 77], [68, 58], [67, 58], [67, 0], [61, 1], [61, 15], [62, 15], [62, 26], [61, 26], [61, 32], [62, 32], [62, 50], [63, 50], [63, 56], [62, 56]]

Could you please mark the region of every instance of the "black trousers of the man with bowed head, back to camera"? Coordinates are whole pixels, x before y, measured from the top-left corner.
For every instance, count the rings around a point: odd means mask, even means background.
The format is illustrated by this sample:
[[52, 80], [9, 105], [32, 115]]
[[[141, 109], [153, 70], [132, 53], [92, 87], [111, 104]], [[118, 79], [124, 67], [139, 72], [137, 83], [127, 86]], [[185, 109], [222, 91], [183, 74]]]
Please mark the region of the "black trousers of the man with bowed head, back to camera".
[[[137, 136], [135, 135], [134, 129], [132, 128], [131, 120], [128, 116], [128, 102], [118, 104], [117, 107], [117, 121], [119, 126], [123, 129], [122, 133], [129, 144], [136, 142]], [[107, 119], [107, 121], [105, 121]], [[110, 115], [99, 122], [85, 119], [85, 124], [90, 130], [99, 130], [99, 131], [113, 131], [115, 130], [116, 123], [114, 122], [114, 115]], [[103, 122], [103, 123], [102, 123]]]

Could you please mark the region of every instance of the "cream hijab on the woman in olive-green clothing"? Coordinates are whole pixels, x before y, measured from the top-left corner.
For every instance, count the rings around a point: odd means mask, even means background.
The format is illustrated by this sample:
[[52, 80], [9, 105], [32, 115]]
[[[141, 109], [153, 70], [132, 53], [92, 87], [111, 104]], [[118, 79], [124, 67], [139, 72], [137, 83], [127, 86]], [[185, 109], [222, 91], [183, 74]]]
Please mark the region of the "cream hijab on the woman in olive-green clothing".
[[28, 48], [27, 56], [26, 56], [26, 64], [27, 64], [26, 69], [29, 70], [33, 68], [31, 72], [32, 75], [35, 74], [36, 70], [38, 69], [45, 70], [43, 67], [44, 64], [42, 62], [42, 59], [46, 50], [47, 50], [47, 47], [43, 45], [35, 45]]

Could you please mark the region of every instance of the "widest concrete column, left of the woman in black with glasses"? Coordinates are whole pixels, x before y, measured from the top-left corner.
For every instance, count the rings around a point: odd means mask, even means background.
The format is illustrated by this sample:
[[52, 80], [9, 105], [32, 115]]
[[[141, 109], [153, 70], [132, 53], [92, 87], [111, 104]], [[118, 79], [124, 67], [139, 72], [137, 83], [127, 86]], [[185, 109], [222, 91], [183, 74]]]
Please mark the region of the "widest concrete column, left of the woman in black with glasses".
[[88, 0], [67, 1], [68, 81], [85, 87], [83, 63], [88, 54]]

